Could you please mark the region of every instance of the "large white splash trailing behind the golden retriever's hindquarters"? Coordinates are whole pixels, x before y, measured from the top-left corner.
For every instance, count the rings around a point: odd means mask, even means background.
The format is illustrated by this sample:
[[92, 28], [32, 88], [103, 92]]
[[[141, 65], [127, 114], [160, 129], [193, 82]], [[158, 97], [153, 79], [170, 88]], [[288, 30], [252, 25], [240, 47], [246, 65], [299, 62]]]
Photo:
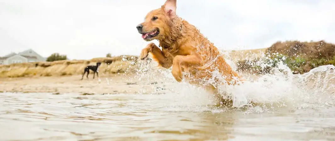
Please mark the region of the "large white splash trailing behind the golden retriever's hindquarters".
[[[257, 62], [258, 65], [263, 68], [270, 66], [265, 60], [269, 58], [264, 57]], [[261, 75], [257, 80], [247, 78], [248, 81], [241, 85], [223, 85], [220, 90], [232, 97], [233, 107], [242, 107], [250, 102], [271, 109], [333, 105], [334, 65], [320, 66], [305, 74], [293, 74], [282, 61], [271, 68], [270, 74]]]

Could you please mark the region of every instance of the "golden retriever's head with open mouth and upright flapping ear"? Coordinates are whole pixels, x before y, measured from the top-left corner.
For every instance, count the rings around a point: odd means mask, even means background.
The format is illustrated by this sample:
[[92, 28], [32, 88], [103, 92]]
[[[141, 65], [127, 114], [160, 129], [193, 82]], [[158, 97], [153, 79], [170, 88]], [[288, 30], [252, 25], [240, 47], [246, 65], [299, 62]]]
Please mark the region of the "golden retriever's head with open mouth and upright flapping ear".
[[166, 0], [161, 8], [150, 11], [145, 16], [145, 21], [136, 26], [144, 40], [163, 40], [169, 36], [172, 20], [177, 18], [176, 3], [177, 0]]

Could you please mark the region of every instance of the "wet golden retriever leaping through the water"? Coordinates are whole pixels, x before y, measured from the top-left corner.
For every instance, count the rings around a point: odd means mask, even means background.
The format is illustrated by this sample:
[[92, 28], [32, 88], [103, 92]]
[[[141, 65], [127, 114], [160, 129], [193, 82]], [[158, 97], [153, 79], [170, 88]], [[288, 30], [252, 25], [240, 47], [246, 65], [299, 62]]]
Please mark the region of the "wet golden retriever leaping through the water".
[[[159, 66], [172, 66], [172, 75], [178, 82], [187, 79], [189, 83], [205, 86], [214, 93], [217, 93], [217, 87], [208, 84], [208, 80], [214, 79], [216, 85], [238, 84], [241, 78], [226, 63], [213, 43], [195, 26], [176, 15], [176, 4], [177, 0], [167, 0], [161, 8], [150, 11], [145, 21], [136, 26], [145, 41], [156, 39], [161, 47], [149, 43], [139, 58], [144, 59], [151, 53]], [[183, 75], [183, 72], [187, 75]], [[217, 72], [225, 82], [215, 78]]]

